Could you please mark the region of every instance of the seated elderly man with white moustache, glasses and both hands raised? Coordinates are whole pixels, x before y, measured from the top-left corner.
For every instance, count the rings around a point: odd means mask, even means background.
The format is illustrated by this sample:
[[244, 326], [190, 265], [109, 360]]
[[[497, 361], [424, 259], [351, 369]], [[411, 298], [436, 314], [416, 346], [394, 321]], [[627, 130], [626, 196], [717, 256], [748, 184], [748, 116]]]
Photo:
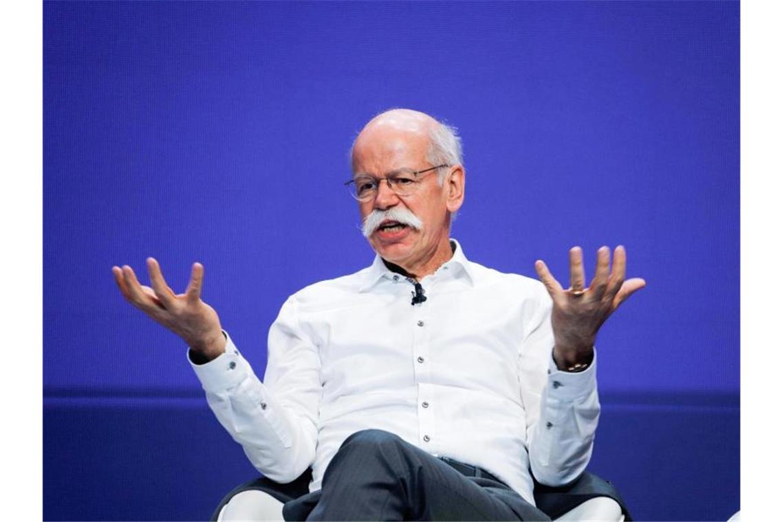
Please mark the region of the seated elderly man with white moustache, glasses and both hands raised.
[[347, 182], [376, 260], [289, 297], [263, 382], [216, 311], [203, 268], [176, 295], [114, 267], [123, 295], [180, 335], [212, 411], [268, 479], [312, 469], [289, 519], [542, 520], [534, 479], [557, 486], [590, 459], [599, 417], [597, 330], [642, 279], [617, 247], [590, 285], [570, 253], [564, 290], [469, 261], [450, 239], [465, 171], [453, 128], [413, 110], [369, 121]]

